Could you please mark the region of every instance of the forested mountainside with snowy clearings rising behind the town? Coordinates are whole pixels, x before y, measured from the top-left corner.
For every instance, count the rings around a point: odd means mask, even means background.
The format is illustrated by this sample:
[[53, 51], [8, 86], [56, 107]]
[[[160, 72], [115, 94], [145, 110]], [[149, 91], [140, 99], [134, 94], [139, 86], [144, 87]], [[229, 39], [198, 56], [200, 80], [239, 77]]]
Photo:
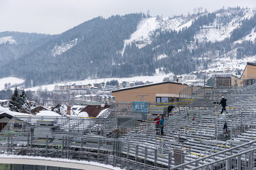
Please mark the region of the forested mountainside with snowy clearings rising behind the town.
[[[227, 8], [175, 17], [141, 13], [97, 17], [62, 34], [38, 36], [35, 47], [3, 62], [0, 76], [26, 79], [26, 86], [85, 78], [234, 71], [256, 61], [256, 10]], [[0, 59], [14, 34], [1, 34]], [[31, 41], [33, 44], [33, 41]]]

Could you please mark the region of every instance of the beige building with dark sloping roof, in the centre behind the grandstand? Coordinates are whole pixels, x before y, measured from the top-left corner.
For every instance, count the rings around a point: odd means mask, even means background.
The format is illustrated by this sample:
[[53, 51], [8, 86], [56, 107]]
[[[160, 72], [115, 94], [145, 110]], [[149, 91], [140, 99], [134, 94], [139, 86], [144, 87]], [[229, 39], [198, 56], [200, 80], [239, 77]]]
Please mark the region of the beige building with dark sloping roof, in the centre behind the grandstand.
[[180, 90], [188, 87], [182, 83], [164, 81], [125, 89], [113, 90], [115, 101], [168, 102], [178, 101]]

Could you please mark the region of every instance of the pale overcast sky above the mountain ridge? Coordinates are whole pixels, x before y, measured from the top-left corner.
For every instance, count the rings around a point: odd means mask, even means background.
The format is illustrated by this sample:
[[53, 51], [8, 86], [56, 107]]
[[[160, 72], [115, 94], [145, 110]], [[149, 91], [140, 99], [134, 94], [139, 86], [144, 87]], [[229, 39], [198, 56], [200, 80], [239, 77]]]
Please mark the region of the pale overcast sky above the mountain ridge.
[[150, 11], [172, 17], [202, 7], [255, 8], [256, 0], [0, 0], [0, 32], [20, 31], [58, 34], [93, 17]]

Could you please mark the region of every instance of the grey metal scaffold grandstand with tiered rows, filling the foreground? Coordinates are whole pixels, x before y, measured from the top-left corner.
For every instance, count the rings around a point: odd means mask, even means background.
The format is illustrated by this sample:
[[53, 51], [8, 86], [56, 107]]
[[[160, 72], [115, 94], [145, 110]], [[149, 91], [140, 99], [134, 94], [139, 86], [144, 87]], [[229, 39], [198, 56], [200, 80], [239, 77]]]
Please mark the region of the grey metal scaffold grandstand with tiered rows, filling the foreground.
[[[121, 169], [255, 168], [256, 84], [214, 87], [205, 80], [181, 90], [177, 103], [112, 103], [96, 118], [16, 115], [1, 131], [0, 152]], [[228, 100], [223, 114], [221, 96]], [[165, 115], [164, 136], [156, 135], [157, 114]]]

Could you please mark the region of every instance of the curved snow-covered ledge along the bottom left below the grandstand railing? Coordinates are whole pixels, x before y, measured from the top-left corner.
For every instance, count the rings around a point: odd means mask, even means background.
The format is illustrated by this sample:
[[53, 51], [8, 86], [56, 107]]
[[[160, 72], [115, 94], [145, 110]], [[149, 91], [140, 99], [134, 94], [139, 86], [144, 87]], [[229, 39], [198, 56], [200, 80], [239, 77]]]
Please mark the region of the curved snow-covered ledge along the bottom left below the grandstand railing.
[[52, 157], [38, 157], [38, 156], [24, 156], [24, 155], [7, 155], [7, 154], [0, 154], [1, 158], [17, 158], [17, 159], [40, 159], [40, 160], [51, 160], [56, 162], [74, 162], [79, 164], [88, 164], [92, 166], [99, 166], [99, 167], [106, 167], [113, 170], [121, 170], [119, 167], [113, 167], [111, 165], [100, 164], [98, 162], [88, 162], [86, 160], [72, 160], [72, 159], [61, 159], [61, 158], [52, 158]]

